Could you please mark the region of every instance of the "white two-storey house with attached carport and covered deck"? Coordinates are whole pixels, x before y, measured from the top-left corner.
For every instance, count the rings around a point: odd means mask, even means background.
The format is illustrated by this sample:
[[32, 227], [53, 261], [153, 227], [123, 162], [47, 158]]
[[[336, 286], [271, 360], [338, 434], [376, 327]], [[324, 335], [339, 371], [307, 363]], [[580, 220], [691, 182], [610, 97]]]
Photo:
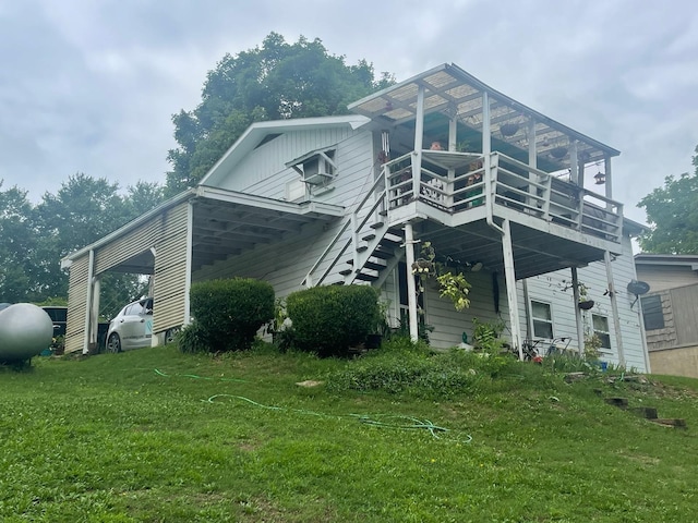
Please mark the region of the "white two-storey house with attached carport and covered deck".
[[[119, 270], [154, 276], [154, 343], [189, 321], [192, 282], [243, 276], [278, 296], [375, 285], [413, 336], [423, 311], [436, 348], [471, 335], [472, 318], [501, 318], [517, 349], [537, 337], [580, 348], [591, 329], [609, 361], [648, 369], [626, 292], [639, 226], [611, 193], [617, 150], [453, 64], [349, 109], [251, 125], [196, 187], [65, 257], [67, 351], [95, 344], [99, 279]], [[593, 185], [603, 193], [585, 188], [590, 169], [603, 172]], [[466, 270], [470, 308], [456, 312], [429, 285], [418, 304], [409, 268], [425, 241]], [[578, 280], [591, 311], [576, 306]]]

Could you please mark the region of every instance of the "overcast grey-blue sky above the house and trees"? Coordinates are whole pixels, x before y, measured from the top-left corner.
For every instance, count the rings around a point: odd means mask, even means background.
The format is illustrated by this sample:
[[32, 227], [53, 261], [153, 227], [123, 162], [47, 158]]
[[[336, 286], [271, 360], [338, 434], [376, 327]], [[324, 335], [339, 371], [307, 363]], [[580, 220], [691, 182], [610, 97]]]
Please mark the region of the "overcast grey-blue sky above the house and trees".
[[75, 172], [165, 183], [171, 114], [226, 52], [321, 38], [406, 80], [454, 62], [622, 151], [614, 198], [691, 171], [698, 10], [691, 0], [0, 0], [0, 179], [38, 202]]

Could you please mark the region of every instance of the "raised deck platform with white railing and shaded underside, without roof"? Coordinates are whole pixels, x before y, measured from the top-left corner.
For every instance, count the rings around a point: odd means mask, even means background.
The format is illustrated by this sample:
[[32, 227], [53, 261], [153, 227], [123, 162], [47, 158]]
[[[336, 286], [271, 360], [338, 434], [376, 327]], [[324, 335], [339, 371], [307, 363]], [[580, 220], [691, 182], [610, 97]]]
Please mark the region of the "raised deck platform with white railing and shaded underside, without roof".
[[503, 220], [513, 228], [517, 278], [622, 251], [619, 203], [501, 153], [413, 151], [385, 163], [382, 174], [388, 223], [417, 219], [420, 234], [454, 259], [502, 270]]

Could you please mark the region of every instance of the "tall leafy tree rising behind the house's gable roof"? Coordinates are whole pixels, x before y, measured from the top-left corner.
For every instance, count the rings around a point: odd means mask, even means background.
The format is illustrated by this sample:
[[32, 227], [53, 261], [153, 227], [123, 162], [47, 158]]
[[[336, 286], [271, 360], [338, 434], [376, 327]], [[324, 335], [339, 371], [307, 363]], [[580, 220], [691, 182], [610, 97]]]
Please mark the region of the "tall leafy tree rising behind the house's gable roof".
[[167, 194], [195, 185], [255, 121], [346, 114], [349, 102], [392, 83], [388, 73], [374, 80], [365, 60], [347, 65], [317, 38], [287, 44], [269, 33], [262, 47], [226, 54], [208, 72], [198, 107], [172, 117], [179, 147], [168, 155]]

